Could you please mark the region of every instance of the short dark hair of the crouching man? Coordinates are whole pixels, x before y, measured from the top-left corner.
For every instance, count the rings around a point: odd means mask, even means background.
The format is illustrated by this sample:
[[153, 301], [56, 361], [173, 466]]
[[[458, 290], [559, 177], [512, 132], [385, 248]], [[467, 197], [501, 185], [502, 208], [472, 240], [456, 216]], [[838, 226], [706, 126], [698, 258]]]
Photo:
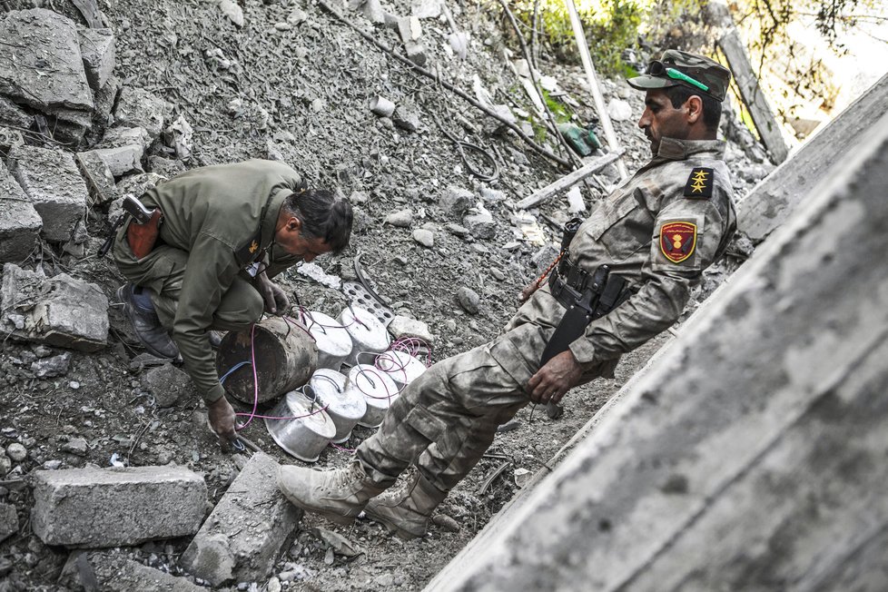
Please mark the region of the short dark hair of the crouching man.
[[333, 252], [349, 246], [351, 222], [354, 218], [351, 205], [337, 198], [327, 189], [305, 189], [291, 193], [283, 201], [282, 208], [299, 218], [301, 232], [308, 239], [323, 239]]

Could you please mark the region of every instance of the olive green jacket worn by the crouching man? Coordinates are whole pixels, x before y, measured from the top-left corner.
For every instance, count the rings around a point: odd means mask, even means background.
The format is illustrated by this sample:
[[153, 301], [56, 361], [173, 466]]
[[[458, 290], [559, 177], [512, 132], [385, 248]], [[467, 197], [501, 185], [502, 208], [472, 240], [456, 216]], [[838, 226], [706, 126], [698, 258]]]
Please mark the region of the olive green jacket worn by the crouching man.
[[204, 400], [224, 394], [207, 331], [222, 294], [253, 261], [269, 275], [298, 261], [265, 255], [281, 203], [300, 175], [284, 163], [250, 160], [192, 169], [148, 190], [142, 202], [163, 212], [163, 243], [188, 252], [173, 340]]

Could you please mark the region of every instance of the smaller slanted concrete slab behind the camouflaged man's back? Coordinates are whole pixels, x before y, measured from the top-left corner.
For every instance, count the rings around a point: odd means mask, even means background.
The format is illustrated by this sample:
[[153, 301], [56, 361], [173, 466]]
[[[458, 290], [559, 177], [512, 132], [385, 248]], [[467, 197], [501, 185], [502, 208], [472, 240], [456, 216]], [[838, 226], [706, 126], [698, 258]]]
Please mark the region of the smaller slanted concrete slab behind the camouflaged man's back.
[[738, 205], [738, 226], [754, 242], [783, 224], [844, 167], [861, 136], [888, 110], [888, 74], [805, 142]]

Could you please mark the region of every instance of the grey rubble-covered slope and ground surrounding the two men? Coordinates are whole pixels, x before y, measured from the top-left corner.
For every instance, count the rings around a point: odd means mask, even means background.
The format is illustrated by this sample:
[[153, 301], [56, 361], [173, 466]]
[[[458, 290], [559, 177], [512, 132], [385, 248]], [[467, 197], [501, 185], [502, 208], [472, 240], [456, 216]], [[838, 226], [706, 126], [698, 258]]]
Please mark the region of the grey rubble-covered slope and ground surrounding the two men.
[[[336, 6], [566, 156], [517, 82], [528, 64], [482, 7]], [[137, 345], [115, 305], [120, 276], [95, 253], [124, 195], [193, 166], [284, 160], [356, 211], [351, 252], [287, 274], [284, 286], [311, 310], [341, 310], [347, 299], [331, 285], [356, 281], [351, 256], [363, 253], [394, 313], [390, 331], [434, 343], [437, 359], [496, 334], [515, 294], [557, 256], [563, 222], [619, 182], [616, 167], [519, 210], [516, 202], [566, 171], [320, 5], [123, 0], [106, 10], [88, 25], [46, 8], [0, 13], [0, 579], [11, 589], [80, 589], [91, 575], [109, 589], [292, 589], [319, 577], [351, 589], [421, 586], [517, 486], [454, 491], [435, 518], [449, 547], [394, 575], [390, 559], [359, 558], [337, 533], [297, 536], [299, 517], [273, 482], [277, 463], [292, 459], [258, 421], [244, 434], [268, 455], [247, 462], [219, 450], [187, 375]], [[586, 129], [596, 113], [582, 70], [536, 67], [549, 96]], [[603, 87], [633, 170], [649, 157], [635, 123], [642, 97], [620, 82]], [[743, 194], [771, 165], [726, 113], [728, 163]], [[578, 394], [577, 413], [557, 429], [576, 430], [614, 388]], [[355, 433], [345, 447], [372, 431]], [[557, 449], [545, 431], [527, 440], [527, 431], [504, 434], [516, 475]], [[328, 449], [321, 462], [348, 456]], [[378, 527], [356, 528], [349, 538], [361, 547], [372, 538], [400, 553]]]

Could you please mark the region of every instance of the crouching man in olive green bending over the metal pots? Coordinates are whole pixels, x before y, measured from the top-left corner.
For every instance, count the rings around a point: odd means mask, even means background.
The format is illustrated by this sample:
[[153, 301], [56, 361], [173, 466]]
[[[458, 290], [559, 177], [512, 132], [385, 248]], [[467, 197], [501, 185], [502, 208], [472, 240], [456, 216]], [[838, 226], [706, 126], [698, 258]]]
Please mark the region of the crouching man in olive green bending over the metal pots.
[[156, 239], [154, 222], [133, 221], [113, 245], [130, 282], [117, 295], [136, 334], [155, 356], [182, 356], [221, 440], [235, 438], [234, 409], [208, 331], [244, 329], [263, 310], [283, 314], [290, 302], [270, 278], [349, 243], [349, 203], [326, 190], [302, 190], [300, 182], [299, 173], [272, 161], [192, 169], [143, 195], [146, 209], [160, 211]]

